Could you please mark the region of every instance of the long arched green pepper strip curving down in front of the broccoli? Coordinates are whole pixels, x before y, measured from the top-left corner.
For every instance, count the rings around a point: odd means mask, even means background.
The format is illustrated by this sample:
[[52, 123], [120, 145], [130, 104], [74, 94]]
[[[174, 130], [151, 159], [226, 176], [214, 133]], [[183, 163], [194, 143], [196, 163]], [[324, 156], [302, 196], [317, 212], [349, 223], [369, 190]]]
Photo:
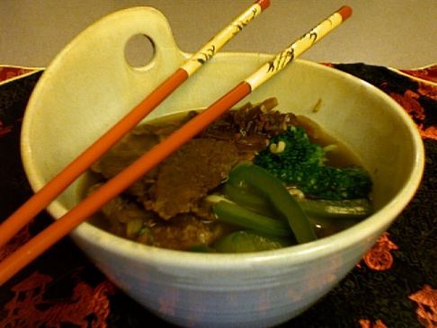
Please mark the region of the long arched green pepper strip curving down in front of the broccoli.
[[308, 217], [282, 182], [254, 164], [238, 164], [229, 173], [227, 183], [242, 191], [268, 199], [276, 216], [288, 222], [299, 244], [317, 239]]

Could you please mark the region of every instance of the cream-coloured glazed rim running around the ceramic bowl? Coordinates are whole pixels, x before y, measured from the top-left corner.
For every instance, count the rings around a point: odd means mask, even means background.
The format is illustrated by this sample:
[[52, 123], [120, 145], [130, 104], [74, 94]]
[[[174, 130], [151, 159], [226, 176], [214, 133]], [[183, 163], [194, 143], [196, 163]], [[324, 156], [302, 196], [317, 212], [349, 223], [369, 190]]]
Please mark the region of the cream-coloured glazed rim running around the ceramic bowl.
[[[264, 53], [245, 53], [245, 52], [223, 52], [217, 55], [217, 59], [233, 56], [255, 56], [272, 57], [271, 54]], [[325, 257], [328, 254], [339, 252], [340, 250], [361, 242], [371, 242], [376, 233], [382, 233], [396, 219], [397, 215], [406, 207], [407, 203], [415, 195], [424, 173], [424, 145], [422, 138], [415, 127], [415, 123], [406, 113], [406, 111], [388, 94], [383, 93], [376, 86], [361, 80], [360, 78], [335, 69], [330, 66], [311, 62], [304, 59], [296, 59], [299, 65], [317, 66], [317, 69], [328, 70], [330, 74], [341, 75], [353, 84], [362, 84], [370, 93], [374, 93], [388, 103], [390, 111], [396, 111], [397, 116], [403, 121], [408, 129], [412, 144], [415, 150], [414, 165], [408, 173], [409, 179], [384, 207], [380, 208], [372, 216], [367, 217], [360, 223], [353, 225], [339, 233], [318, 239], [315, 242], [299, 244], [290, 247], [281, 248], [272, 251], [263, 251], [257, 253], [190, 253], [186, 251], [175, 251], [164, 248], [158, 248], [145, 244], [139, 244], [128, 239], [112, 235], [103, 229], [84, 222], [77, 226], [70, 235], [77, 242], [81, 240], [86, 244], [93, 244], [97, 248], [104, 248], [109, 253], [117, 254], [126, 258], [135, 258], [136, 261], [154, 264], [159, 266], [168, 266], [174, 268], [191, 268], [192, 270], [214, 270], [228, 271], [229, 266], [233, 270], [245, 270], [255, 266], [263, 266], [266, 262], [270, 265], [287, 265], [291, 266], [301, 262], [311, 262]], [[296, 63], [295, 63], [296, 64]], [[44, 74], [41, 76], [41, 82], [44, 81]], [[40, 84], [40, 83], [39, 83]], [[40, 84], [42, 85], [42, 83]], [[37, 85], [38, 86], [38, 85]], [[37, 88], [40, 90], [40, 88]], [[31, 96], [29, 104], [37, 98]], [[29, 105], [28, 105], [29, 106]], [[26, 111], [27, 113], [28, 111]], [[24, 118], [22, 124], [22, 162], [28, 180], [31, 182], [31, 188], [36, 191], [41, 188], [41, 182], [35, 175], [35, 169], [32, 168], [31, 159], [27, 156], [28, 143], [25, 141], [29, 137], [30, 120]], [[66, 208], [60, 206], [54, 201], [48, 208], [52, 217], [57, 217], [59, 209]], [[372, 239], [369, 241], [369, 239]], [[213, 261], [209, 261], [213, 259]], [[286, 261], [284, 261], [286, 260]]]

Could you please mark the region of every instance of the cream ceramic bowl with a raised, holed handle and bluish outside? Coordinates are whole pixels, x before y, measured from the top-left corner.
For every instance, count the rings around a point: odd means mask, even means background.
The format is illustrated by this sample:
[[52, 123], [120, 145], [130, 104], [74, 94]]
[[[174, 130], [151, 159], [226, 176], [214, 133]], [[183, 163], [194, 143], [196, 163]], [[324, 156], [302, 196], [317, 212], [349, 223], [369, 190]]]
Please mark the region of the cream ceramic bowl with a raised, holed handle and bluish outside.
[[[125, 46], [152, 40], [154, 57], [129, 66]], [[83, 31], [47, 68], [22, 125], [22, 160], [34, 191], [189, 57], [162, 13], [135, 7]], [[254, 72], [268, 54], [221, 53], [148, 119], [208, 106]], [[280, 324], [324, 296], [360, 262], [412, 199], [424, 169], [422, 141], [406, 112], [366, 82], [296, 60], [242, 102], [275, 96], [281, 111], [317, 121], [351, 146], [374, 181], [374, 215], [341, 233], [281, 250], [245, 254], [183, 253], [136, 244], [84, 223], [76, 244], [119, 288], [165, 320], [183, 326]], [[319, 102], [319, 111], [313, 111]], [[61, 217], [77, 204], [82, 178], [49, 206]]]

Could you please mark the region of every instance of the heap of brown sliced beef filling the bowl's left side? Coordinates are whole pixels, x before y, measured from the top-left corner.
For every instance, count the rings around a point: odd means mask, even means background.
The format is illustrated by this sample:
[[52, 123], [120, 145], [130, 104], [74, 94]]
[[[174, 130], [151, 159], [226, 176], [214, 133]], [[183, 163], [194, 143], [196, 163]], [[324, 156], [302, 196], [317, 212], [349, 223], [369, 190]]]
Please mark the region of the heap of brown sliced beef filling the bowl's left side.
[[[178, 250], [211, 244], [223, 227], [215, 222], [210, 205], [201, 200], [227, 178], [235, 164], [253, 159], [270, 137], [297, 125], [293, 114], [272, 111], [276, 104], [275, 99], [268, 99], [228, 111], [112, 199], [102, 208], [111, 232]], [[92, 170], [104, 179], [112, 178], [195, 115], [190, 112], [177, 120], [139, 126]]]

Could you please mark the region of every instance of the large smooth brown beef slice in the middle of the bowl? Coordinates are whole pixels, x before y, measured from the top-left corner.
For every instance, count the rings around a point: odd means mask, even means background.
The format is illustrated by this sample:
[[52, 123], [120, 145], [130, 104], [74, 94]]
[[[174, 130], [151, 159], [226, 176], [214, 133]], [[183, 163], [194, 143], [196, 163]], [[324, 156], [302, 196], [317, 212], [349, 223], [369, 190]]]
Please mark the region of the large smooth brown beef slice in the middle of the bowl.
[[192, 139], [159, 167], [151, 201], [160, 217], [188, 213], [207, 193], [223, 182], [238, 161], [232, 141]]

